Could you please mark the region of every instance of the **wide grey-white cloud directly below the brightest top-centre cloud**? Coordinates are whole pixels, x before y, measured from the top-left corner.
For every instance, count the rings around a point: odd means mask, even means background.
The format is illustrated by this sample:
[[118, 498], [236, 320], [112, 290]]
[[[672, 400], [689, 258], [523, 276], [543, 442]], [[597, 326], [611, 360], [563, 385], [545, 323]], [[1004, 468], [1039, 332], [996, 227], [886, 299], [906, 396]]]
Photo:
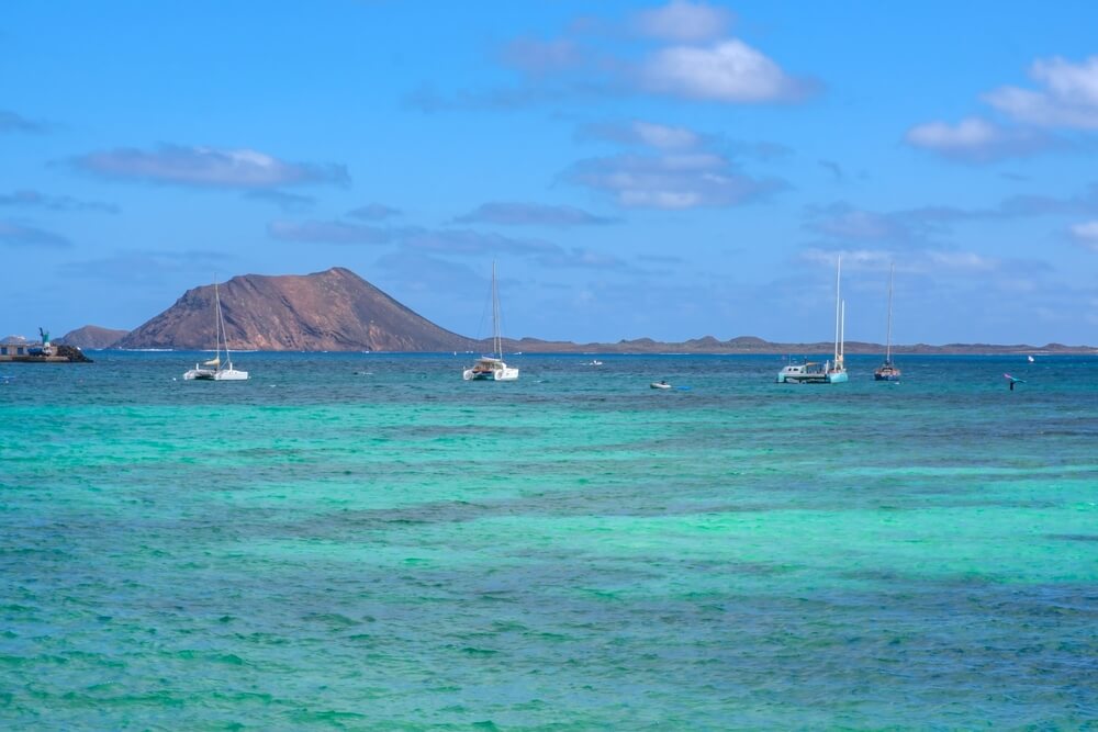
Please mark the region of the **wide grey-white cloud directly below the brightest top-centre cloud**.
[[562, 177], [608, 193], [625, 207], [670, 210], [736, 206], [786, 187], [777, 179], [740, 173], [727, 158], [712, 153], [590, 158]]

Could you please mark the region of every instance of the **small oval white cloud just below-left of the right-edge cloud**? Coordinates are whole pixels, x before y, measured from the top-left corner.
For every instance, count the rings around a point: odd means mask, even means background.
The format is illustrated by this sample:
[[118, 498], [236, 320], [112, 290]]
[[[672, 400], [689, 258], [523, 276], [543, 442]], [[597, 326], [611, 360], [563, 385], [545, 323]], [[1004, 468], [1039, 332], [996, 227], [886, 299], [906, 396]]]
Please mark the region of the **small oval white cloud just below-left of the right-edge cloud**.
[[966, 117], [955, 125], [945, 122], [916, 125], [904, 138], [914, 147], [976, 164], [1033, 155], [1055, 145], [1053, 138], [1041, 132], [1004, 127], [979, 117]]

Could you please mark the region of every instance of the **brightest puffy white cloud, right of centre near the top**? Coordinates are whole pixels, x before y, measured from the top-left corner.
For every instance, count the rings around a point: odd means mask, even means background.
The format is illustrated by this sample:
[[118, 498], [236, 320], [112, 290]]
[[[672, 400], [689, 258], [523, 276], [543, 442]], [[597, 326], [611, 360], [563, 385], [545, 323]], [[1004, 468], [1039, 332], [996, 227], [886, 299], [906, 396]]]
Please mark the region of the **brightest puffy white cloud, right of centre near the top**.
[[808, 91], [806, 82], [735, 38], [704, 48], [662, 48], [641, 66], [639, 75], [640, 85], [649, 91], [719, 102], [787, 101]]

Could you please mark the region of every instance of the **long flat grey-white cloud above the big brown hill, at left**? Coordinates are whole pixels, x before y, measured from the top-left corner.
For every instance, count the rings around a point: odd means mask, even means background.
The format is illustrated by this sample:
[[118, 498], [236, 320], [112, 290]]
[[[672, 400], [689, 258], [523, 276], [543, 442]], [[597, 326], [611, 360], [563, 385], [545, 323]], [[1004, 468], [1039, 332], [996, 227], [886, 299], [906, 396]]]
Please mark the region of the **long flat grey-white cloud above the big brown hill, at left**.
[[344, 166], [287, 162], [250, 149], [181, 145], [161, 145], [153, 150], [116, 148], [91, 153], [71, 162], [80, 170], [105, 178], [178, 185], [260, 189], [350, 181]]

